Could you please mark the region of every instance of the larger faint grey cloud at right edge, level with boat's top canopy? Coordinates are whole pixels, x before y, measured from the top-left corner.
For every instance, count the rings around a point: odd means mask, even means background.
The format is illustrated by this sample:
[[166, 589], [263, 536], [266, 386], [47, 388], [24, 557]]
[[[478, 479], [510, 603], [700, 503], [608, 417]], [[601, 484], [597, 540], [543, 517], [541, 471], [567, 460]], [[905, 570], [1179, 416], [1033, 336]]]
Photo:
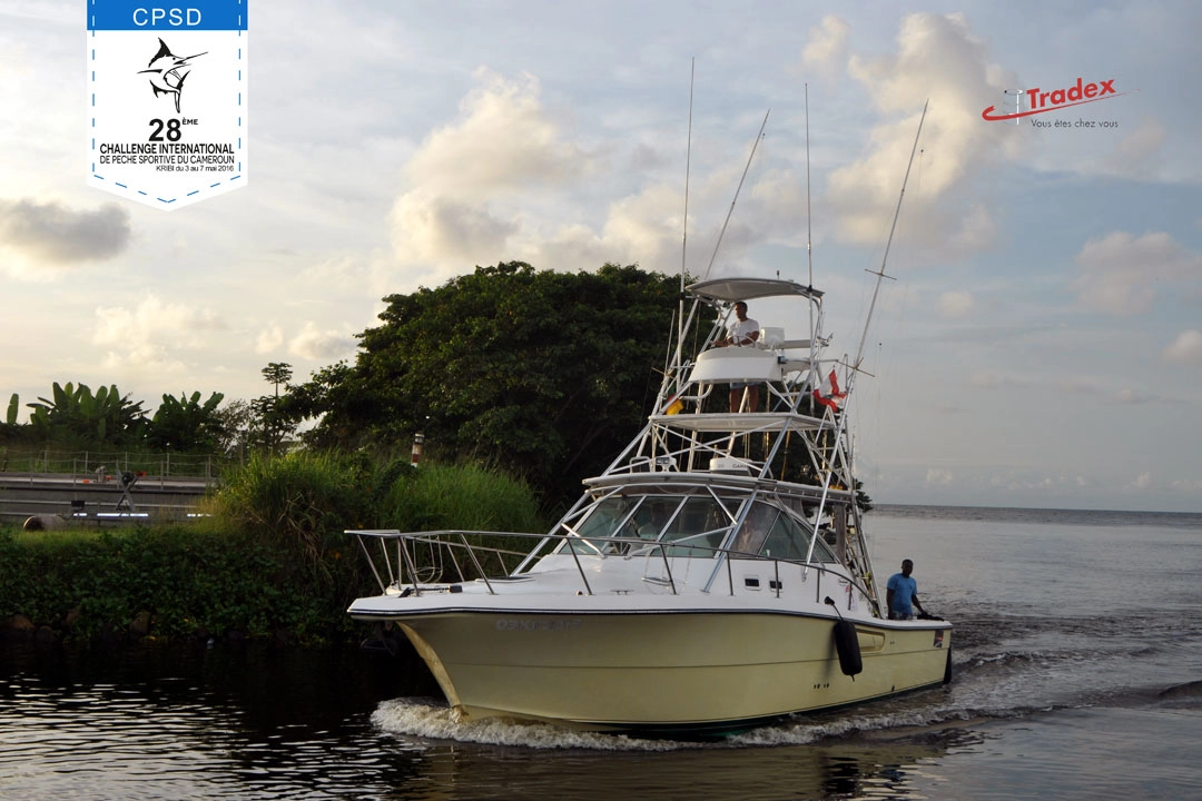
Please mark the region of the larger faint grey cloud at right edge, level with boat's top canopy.
[[1085, 243], [1076, 256], [1081, 276], [1072, 288], [1087, 306], [1121, 317], [1152, 307], [1156, 288], [1202, 280], [1202, 256], [1164, 232], [1138, 239], [1118, 231]]

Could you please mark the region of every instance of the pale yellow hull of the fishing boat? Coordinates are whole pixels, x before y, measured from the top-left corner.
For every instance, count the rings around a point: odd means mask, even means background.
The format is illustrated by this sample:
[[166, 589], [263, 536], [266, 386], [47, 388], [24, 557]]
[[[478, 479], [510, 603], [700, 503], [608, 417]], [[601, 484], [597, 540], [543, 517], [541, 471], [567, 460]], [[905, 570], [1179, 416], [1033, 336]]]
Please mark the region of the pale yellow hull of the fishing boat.
[[944, 681], [947, 623], [856, 621], [863, 671], [829, 617], [781, 612], [447, 611], [398, 618], [460, 719], [731, 733]]

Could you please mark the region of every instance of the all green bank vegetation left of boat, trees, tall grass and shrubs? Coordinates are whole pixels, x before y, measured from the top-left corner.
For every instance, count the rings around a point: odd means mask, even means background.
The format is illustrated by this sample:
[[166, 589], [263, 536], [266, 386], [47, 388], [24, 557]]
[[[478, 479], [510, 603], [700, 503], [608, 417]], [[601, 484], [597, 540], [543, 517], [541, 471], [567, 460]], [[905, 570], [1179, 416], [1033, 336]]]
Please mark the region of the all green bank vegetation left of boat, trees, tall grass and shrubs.
[[0, 470], [40, 455], [46, 466], [52, 450], [84, 452], [84, 473], [114, 449], [165, 465], [224, 459], [202, 522], [0, 533], [0, 627], [81, 640], [361, 636], [346, 606], [377, 587], [344, 531], [543, 531], [644, 424], [679, 288], [635, 265], [477, 267], [385, 298], [353, 363], [297, 383], [290, 365], [268, 364], [272, 391], [250, 401], [163, 395], [150, 413], [115, 385], [78, 382], [24, 407], [13, 395]]

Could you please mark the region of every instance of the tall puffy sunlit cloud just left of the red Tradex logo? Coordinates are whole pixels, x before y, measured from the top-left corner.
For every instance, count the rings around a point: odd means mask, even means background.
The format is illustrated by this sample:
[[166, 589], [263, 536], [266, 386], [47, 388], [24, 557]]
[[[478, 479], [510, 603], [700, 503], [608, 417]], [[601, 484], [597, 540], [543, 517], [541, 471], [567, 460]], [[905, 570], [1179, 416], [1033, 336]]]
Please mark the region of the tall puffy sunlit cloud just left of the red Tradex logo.
[[[869, 91], [883, 121], [870, 151], [831, 174], [827, 199], [839, 215], [839, 234], [876, 243], [887, 229], [902, 178], [929, 100], [921, 151], [915, 159], [905, 215], [922, 244], [962, 255], [986, 247], [996, 223], [978, 196], [977, 179], [1004, 155], [1004, 126], [983, 125], [982, 98], [1001, 94], [1006, 76], [987, 60], [986, 46], [962, 14], [908, 16], [895, 54], [852, 54], [849, 72]], [[902, 116], [899, 116], [902, 115]]]

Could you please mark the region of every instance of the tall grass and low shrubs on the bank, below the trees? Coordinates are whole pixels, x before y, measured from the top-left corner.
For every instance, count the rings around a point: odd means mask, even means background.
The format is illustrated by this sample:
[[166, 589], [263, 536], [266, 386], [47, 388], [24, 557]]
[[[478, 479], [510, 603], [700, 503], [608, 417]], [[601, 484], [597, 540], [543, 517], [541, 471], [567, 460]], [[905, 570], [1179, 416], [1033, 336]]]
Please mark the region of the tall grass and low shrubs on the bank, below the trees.
[[379, 587], [345, 528], [540, 531], [534, 495], [480, 467], [302, 452], [254, 458], [208, 503], [206, 525], [0, 531], [0, 623], [78, 639], [285, 634], [356, 639], [347, 604]]

